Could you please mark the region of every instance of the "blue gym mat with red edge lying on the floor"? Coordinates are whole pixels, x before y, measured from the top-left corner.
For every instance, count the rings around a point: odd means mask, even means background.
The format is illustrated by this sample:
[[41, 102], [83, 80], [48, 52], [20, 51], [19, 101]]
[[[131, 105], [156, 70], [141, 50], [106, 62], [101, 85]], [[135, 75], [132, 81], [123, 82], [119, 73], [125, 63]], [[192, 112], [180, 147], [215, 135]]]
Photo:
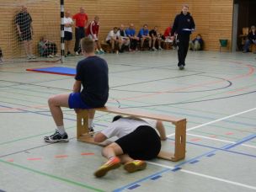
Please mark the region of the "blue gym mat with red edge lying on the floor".
[[37, 69], [26, 69], [29, 72], [45, 72], [51, 74], [58, 75], [67, 75], [67, 76], [75, 76], [76, 69], [69, 67], [45, 67], [45, 68], [37, 68]]

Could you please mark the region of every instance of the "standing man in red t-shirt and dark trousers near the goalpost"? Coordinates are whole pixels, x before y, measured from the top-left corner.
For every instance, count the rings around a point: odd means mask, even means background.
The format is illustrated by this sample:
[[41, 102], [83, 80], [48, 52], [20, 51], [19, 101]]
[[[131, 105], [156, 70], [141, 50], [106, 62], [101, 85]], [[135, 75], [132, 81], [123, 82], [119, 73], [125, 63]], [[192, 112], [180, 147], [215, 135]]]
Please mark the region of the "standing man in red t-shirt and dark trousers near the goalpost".
[[84, 8], [80, 8], [80, 12], [73, 15], [72, 19], [76, 20], [76, 28], [75, 28], [76, 43], [75, 43], [74, 51], [76, 55], [79, 55], [79, 53], [81, 52], [80, 40], [83, 37], [85, 37], [85, 29], [88, 23], [88, 15], [85, 13]]

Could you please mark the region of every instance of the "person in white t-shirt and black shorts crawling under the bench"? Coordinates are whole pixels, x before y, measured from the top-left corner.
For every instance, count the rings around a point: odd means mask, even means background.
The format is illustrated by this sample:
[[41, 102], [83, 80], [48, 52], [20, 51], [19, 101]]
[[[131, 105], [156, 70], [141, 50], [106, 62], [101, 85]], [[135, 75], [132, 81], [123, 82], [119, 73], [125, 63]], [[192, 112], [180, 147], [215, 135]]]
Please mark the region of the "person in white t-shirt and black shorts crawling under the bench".
[[128, 173], [145, 169], [147, 163], [143, 160], [156, 158], [161, 150], [161, 140], [166, 140], [162, 121], [121, 115], [115, 116], [107, 128], [97, 133], [94, 141], [103, 142], [113, 136], [118, 139], [102, 150], [108, 161], [94, 173], [98, 178], [119, 168], [121, 163]]

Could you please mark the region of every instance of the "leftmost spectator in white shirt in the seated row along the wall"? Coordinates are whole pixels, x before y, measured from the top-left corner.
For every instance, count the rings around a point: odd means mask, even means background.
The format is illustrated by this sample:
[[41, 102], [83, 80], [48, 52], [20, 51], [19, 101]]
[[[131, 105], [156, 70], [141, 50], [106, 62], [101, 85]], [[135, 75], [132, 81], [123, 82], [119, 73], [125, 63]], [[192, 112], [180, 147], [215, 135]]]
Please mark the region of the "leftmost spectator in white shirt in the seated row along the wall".
[[115, 46], [118, 46], [119, 51], [122, 51], [122, 40], [120, 37], [120, 31], [117, 27], [114, 27], [113, 30], [109, 31], [106, 42], [111, 46], [112, 53], [115, 53]]

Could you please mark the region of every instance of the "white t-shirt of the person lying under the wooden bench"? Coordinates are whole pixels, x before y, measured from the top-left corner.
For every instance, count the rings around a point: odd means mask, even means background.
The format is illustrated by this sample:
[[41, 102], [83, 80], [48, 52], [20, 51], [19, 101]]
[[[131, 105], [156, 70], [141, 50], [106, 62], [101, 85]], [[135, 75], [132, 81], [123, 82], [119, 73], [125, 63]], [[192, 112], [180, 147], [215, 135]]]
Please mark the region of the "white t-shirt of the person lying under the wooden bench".
[[111, 123], [108, 126], [108, 128], [101, 131], [101, 133], [104, 134], [104, 136], [106, 136], [107, 138], [111, 138], [113, 136], [117, 136], [118, 138], [121, 138], [123, 136], [128, 135], [132, 131], [135, 131], [136, 128], [141, 125], [151, 126], [152, 128], [156, 129], [157, 120], [150, 120], [150, 119], [132, 120], [127, 118], [120, 118], [119, 120], [115, 120], [113, 123]]

